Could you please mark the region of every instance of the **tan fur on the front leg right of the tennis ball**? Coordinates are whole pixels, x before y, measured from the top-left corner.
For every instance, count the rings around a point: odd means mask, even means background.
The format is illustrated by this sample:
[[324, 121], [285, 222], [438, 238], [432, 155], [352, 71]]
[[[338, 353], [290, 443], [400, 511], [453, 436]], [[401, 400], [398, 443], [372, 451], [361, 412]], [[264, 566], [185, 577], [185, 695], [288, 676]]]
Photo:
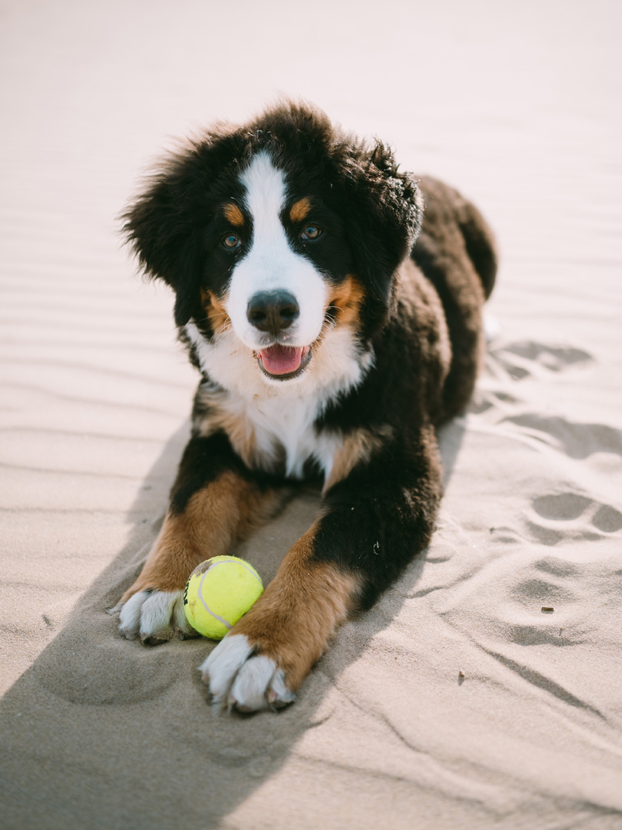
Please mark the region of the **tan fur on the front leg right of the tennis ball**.
[[352, 613], [360, 590], [355, 574], [313, 561], [315, 532], [313, 525], [289, 549], [275, 579], [228, 635], [244, 634], [258, 654], [271, 657], [291, 691]]

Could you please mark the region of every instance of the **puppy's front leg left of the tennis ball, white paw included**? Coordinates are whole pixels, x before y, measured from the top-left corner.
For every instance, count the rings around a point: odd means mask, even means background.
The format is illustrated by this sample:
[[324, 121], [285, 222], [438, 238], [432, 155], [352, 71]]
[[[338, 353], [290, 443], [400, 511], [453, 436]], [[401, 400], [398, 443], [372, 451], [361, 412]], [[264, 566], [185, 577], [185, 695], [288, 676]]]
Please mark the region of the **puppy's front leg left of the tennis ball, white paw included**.
[[[188, 443], [171, 503], [143, 570], [114, 610], [129, 640], [190, 633], [183, 588], [204, 559], [226, 554], [278, 506], [281, 494], [254, 475], [222, 433]], [[159, 636], [158, 636], [159, 635]]]

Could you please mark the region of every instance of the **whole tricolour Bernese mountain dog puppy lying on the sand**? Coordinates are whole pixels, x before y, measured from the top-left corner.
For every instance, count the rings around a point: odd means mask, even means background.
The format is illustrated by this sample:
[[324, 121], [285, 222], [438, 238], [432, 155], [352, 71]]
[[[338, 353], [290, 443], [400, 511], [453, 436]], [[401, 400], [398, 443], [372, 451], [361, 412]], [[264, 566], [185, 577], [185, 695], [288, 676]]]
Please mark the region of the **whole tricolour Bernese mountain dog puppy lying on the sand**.
[[192, 570], [321, 476], [318, 519], [202, 665], [216, 703], [276, 709], [430, 540], [436, 428], [474, 388], [493, 237], [455, 190], [293, 103], [185, 144], [124, 219], [145, 273], [175, 291], [201, 380], [120, 630], [192, 635]]

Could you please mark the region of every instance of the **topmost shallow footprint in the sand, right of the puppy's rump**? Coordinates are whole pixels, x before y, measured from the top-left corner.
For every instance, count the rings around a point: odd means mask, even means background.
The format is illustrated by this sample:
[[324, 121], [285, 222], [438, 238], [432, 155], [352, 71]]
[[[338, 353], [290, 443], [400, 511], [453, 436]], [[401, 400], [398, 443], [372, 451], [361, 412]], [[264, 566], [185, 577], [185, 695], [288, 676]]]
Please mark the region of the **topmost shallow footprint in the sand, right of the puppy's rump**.
[[547, 372], [561, 372], [571, 366], [590, 363], [591, 354], [566, 345], [548, 345], [533, 340], [521, 340], [491, 349], [488, 353], [494, 364], [501, 367], [513, 380]]

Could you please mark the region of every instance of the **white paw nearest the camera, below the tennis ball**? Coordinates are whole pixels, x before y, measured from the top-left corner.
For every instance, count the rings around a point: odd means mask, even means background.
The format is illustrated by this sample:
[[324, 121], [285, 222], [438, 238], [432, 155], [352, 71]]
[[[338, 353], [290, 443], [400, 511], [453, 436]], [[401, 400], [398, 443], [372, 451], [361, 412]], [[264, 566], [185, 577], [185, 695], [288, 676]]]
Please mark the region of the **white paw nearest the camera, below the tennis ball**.
[[285, 686], [283, 669], [271, 657], [253, 657], [253, 647], [244, 634], [227, 634], [199, 671], [214, 703], [228, 709], [280, 709], [296, 698]]

